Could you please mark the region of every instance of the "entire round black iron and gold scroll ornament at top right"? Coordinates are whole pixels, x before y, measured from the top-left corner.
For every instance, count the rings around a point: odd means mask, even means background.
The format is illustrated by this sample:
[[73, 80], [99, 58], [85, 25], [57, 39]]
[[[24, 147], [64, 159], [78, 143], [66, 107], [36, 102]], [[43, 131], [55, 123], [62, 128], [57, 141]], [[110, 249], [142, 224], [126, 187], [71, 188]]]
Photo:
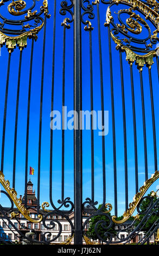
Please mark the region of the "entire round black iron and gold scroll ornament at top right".
[[[129, 9], [119, 9], [117, 12], [114, 11], [114, 13], [118, 15], [117, 18], [119, 22], [116, 23], [116, 16], [112, 15], [111, 10], [115, 4], [128, 4], [130, 7]], [[111, 38], [116, 43], [116, 49], [125, 52], [126, 60], [128, 60], [129, 64], [132, 65], [132, 63], [135, 62], [139, 70], [142, 70], [144, 65], [151, 68], [151, 65], [154, 63], [153, 59], [156, 56], [158, 48], [153, 49], [153, 45], [156, 45], [157, 41], [159, 41], [159, 14], [157, 8], [158, 3], [155, 0], [147, 2], [143, 2], [142, 0], [123, 0], [122, 3], [113, 0], [106, 11], [106, 22], [104, 25], [105, 27], [111, 24], [113, 25]], [[145, 20], [142, 18], [141, 14], [137, 14], [133, 10], [139, 11], [139, 13], [144, 15]], [[129, 15], [129, 17], [124, 16], [125, 22], [122, 20], [123, 14]], [[154, 26], [154, 31], [151, 31], [152, 28], [150, 28], [146, 21], [148, 19], [152, 23], [152, 26]], [[143, 32], [144, 29], [145, 34]], [[141, 39], [134, 37], [132, 34], [147, 35], [147, 37]], [[122, 38], [121, 35], [124, 35], [125, 38]]]

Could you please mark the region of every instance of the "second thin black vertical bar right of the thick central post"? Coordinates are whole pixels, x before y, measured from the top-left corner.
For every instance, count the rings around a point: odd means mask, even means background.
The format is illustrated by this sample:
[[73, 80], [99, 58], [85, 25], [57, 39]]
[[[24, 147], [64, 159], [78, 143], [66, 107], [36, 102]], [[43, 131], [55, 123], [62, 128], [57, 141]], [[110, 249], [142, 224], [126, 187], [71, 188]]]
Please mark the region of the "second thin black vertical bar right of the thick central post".
[[[100, 94], [101, 94], [101, 124], [104, 127], [104, 92], [103, 92], [103, 64], [101, 54], [101, 33], [100, 33], [100, 15], [99, 3], [97, 3], [98, 20], [98, 44], [99, 44], [99, 66], [100, 66]], [[102, 163], [103, 163], [103, 206], [106, 201], [106, 182], [105, 182], [105, 136], [102, 136]]]

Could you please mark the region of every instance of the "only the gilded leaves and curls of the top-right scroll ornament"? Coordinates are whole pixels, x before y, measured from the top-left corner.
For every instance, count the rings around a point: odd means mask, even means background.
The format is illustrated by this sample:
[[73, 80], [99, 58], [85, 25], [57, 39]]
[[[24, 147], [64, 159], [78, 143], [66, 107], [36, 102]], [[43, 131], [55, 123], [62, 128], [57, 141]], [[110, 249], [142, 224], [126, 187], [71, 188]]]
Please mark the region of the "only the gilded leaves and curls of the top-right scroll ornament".
[[[142, 32], [142, 26], [141, 26], [142, 24], [144, 25], [144, 27], [146, 27], [150, 31], [150, 28], [147, 22], [145, 22], [138, 14], [132, 12], [132, 9], [135, 10], [136, 8], [138, 8], [138, 10], [141, 10], [145, 14], [145, 19], [149, 19], [151, 22], [154, 22], [155, 25], [157, 26], [157, 28], [155, 29], [154, 32], [152, 32], [152, 35], [151, 35], [151, 39], [156, 39], [159, 33], [159, 14], [158, 14], [159, 4], [156, 2], [156, 0], [147, 0], [147, 1], [148, 3], [152, 4], [154, 9], [150, 8], [148, 5], [146, 5], [145, 3], [142, 3], [139, 0], [123, 0], [122, 2], [132, 5], [132, 8], [118, 11], [119, 13], [120, 11], [126, 10], [130, 14], [130, 17], [126, 19], [126, 24], [128, 25], [128, 27], [126, 27], [125, 29], [124, 25], [119, 25], [119, 24], [117, 24], [117, 27], [126, 34], [128, 33], [127, 30], [134, 34], [140, 34]], [[113, 0], [113, 2], [118, 4], [120, 0], [119, 1]], [[133, 20], [133, 18], [136, 20]], [[106, 11], [106, 22], [104, 23], [104, 26], [105, 27], [109, 26], [111, 21], [113, 21], [113, 16], [111, 15], [110, 7], [108, 7]], [[148, 66], [149, 69], [151, 68], [151, 65], [154, 63], [153, 58], [156, 56], [156, 51], [158, 50], [158, 48], [150, 51], [147, 54], [141, 55], [133, 52], [132, 50], [130, 50], [128, 46], [124, 46], [122, 44], [122, 41], [128, 43], [129, 42], [128, 39], [125, 38], [120, 40], [118, 36], [114, 35], [112, 32], [111, 32], [111, 37], [113, 41], [115, 41], [115, 43], [117, 44], [116, 49], [119, 50], [120, 48], [122, 51], [125, 51], [126, 60], [128, 60], [130, 65], [132, 65], [133, 62], [135, 62], [139, 70], [142, 70], [145, 64]], [[152, 48], [151, 43], [148, 44], [147, 46]]]

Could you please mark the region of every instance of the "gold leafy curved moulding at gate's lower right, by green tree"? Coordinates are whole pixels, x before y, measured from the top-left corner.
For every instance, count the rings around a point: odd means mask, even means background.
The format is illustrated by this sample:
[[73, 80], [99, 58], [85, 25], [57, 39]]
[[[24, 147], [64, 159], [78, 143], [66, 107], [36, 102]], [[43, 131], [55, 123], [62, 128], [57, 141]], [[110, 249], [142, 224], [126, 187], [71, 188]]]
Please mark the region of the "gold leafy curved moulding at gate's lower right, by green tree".
[[129, 204], [129, 209], [124, 212], [123, 219], [120, 220], [120, 221], [117, 221], [116, 220], [117, 217], [116, 216], [112, 216], [112, 221], [117, 223], [117, 224], [121, 224], [121, 223], [124, 223], [125, 221], [127, 221], [130, 218], [130, 216], [132, 216], [132, 214], [135, 211], [135, 209], [137, 208], [137, 205], [141, 201], [141, 199], [144, 196], [145, 192], [147, 192], [148, 188], [158, 178], [159, 178], [159, 171], [156, 170], [156, 172], [151, 175], [151, 178], [148, 179], [147, 181], [145, 181], [144, 185], [141, 188], [139, 188], [139, 192], [133, 198], [133, 202]]

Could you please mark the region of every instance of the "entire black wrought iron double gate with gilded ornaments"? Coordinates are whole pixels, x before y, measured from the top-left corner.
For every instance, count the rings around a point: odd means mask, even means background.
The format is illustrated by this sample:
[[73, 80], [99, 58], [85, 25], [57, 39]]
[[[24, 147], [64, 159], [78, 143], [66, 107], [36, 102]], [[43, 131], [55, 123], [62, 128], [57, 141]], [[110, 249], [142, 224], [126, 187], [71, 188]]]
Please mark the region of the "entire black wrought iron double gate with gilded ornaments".
[[[5, 200], [2, 200], [0, 205], [1, 243], [18, 240], [43, 244], [58, 239], [60, 242], [63, 231], [69, 231], [63, 244], [129, 243], [143, 230], [137, 243], [148, 242], [154, 234], [154, 242], [158, 242], [159, 199], [156, 192], [144, 195], [159, 177], [158, 125], [155, 125], [159, 3], [156, 0], [2, 0], [0, 8], [0, 182], [1, 196], [5, 195], [11, 204], [3, 205]], [[17, 20], [19, 16], [22, 18]], [[74, 129], [69, 132], [65, 126], [65, 105], [75, 113]], [[58, 108], [62, 109], [62, 129], [54, 131], [53, 111]], [[90, 131], [82, 129], [84, 109], [91, 111]], [[101, 113], [101, 136], [94, 127], [96, 109]], [[111, 113], [108, 136], [105, 136], [105, 110]], [[133, 159], [131, 166], [129, 159]], [[61, 172], [55, 170], [59, 161]], [[32, 182], [28, 182], [29, 163], [37, 164], [37, 199]], [[140, 178], [141, 174], [144, 178]], [[46, 177], [46, 187], [41, 189]], [[54, 180], [59, 177], [61, 195], [56, 200], [53, 191], [58, 182], [54, 184]], [[66, 184], [73, 187], [67, 197]], [[49, 199], [45, 200], [49, 202], [44, 202], [44, 190], [48, 187]], [[135, 197], [129, 205], [131, 190]], [[125, 212], [117, 218], [119, 192], [123, 191]], [[24, 193], [24, 197], [18, 198], [17, 193]], [[25, 196], [28, 194], [33, 196], [31, 203]], [[141, 206], [146, 199], [143, 210]], [[135, 211], [136, 216], [132, 217]], [[152, 217], [154, 222], [145, 231]], [[93, 218], [98, 242], [93, 241], [87, 229]], [[64, 222], [69, 230], [63, 230]], [[37, 228], [33, 223], [40, 225]], [[58, 231], [53, 233], [56, 226]], [[124, 231], [125, 237], [120, 235]]]

